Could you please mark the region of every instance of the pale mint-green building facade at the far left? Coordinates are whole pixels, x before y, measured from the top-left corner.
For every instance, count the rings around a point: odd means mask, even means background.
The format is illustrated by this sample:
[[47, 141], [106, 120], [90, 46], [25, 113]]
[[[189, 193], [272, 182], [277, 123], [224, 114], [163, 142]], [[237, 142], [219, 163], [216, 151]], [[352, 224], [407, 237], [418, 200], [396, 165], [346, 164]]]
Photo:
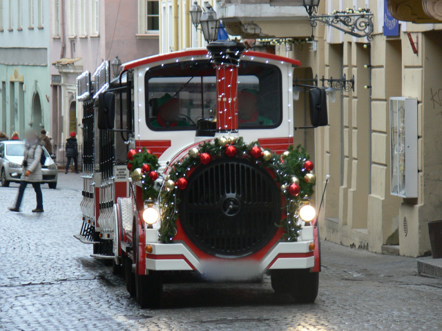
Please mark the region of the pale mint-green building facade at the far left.
[[0, 1], [0, 130], [50, 130], [48, 2]]

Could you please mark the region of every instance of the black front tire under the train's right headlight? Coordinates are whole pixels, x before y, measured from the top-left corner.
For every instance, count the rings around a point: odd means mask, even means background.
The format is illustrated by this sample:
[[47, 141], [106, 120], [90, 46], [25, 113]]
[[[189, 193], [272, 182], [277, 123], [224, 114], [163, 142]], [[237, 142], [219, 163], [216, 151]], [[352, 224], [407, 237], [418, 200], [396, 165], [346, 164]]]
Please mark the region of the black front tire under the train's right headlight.
[[313, 303], [318, 296], [319, 272], [272, 270], [271, 287], [276, 293], [289, 293], [298, 303]]

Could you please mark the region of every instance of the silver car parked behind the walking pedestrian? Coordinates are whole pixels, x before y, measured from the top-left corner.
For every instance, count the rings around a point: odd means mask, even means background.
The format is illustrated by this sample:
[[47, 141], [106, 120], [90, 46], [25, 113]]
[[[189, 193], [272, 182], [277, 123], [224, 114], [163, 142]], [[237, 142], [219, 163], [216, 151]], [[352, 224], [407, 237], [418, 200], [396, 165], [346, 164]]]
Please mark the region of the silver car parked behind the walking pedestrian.
[[[1, 186], [9, 186], [11, 181], [19, 183], [21, 163], [23, 163], [24, 141], [0, 141], [0, 179]], [[48, 183], [49, 188], [57, 188], [58, 169], [54, 160], [51, 159], [46, 148], [43, 148], [46, 161], [41, 167], [43, 173], [42, 183]]]

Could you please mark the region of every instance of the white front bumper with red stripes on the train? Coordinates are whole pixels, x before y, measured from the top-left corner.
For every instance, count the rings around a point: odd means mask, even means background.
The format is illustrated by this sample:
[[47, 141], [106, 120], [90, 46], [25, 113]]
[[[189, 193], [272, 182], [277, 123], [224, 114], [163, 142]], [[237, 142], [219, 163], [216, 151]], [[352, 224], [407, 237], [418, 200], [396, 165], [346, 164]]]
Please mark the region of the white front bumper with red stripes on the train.
[[253, 255], [242, 259], [200, 259], [184, 243], [149, 241], [155, 234], [146, 233], [146, 273], [148, 270], [196, 270], [209, 278], [249, 279], [266, 270], [313, 268], [313, 233], [312, 226], [303, 228], [298, 241], [278, 242], [260, 260], [253, 259]]

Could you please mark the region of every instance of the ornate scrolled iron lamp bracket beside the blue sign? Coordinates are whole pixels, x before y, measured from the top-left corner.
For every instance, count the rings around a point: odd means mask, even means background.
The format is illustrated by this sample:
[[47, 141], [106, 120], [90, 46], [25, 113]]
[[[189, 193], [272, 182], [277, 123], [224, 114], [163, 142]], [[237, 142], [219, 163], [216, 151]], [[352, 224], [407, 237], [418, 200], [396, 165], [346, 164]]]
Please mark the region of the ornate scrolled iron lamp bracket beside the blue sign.
[[369, 9], [347, 10], [345, 12], [334, 11], [328, 15], [309, 15], [311, 26], [317, 26], [318, 22], [332, 26], [353, 37], [367, 37], [373, 39], [373, 13]]

